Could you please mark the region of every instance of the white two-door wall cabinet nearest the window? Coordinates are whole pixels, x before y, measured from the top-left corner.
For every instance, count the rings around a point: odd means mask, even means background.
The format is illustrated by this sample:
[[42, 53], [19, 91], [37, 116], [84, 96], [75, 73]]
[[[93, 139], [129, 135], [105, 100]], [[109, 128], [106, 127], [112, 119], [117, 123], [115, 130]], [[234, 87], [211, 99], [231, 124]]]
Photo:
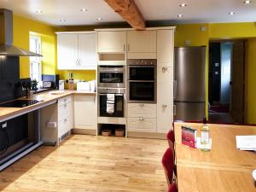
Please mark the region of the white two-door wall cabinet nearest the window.
[[96, 33], [57, 35], [58, 69], [96, 69]]

